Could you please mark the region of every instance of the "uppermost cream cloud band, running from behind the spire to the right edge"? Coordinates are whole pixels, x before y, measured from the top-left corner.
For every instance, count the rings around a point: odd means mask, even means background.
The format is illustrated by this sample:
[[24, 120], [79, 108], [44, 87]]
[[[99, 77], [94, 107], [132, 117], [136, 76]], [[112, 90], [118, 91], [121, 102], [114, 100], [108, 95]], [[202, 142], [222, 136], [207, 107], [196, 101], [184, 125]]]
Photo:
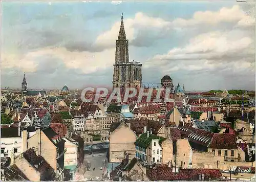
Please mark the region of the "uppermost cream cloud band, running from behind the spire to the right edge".
[[[190, 28], [202, 31], [210, 26], [222, 26], [221, 23], [231, 23], [230, 29], [233, 26], [248, 26], [255, 25], [255, 21], [250, 16], [246, 16], [243, 9], [236, 5], [231, 8], [222, 8], [219, 11], [198, 11], [195, 12], [190, 19], [176, 18], [173, 21], [167, 21], [162, 18], [150, 17], [142, 12], [136, 13], [134, 18], [124, 19], [124, 28], [127, 39], [132, 43], [137, 37], [139, 30], [146, 31], [161, 31], [162, 33], [171, 34], [172, 29], [184, 30]], [[115, 22], [109, 31], [103, 32], [96, 39], [96, 44], [109, 48], [114, 47], [120, 28], [120, 20]], [[217, 28], [218, 30], [218, 28]], [[185, 31], [188, 31], [185, 29]], [[197, 31], [196, 31], [197, 32]], [[188, 32], [189, 33], [189, 32]], [[164, 37], [164, 36], [163, 36]], [[144, 37], [145, 38], [145, 37]], [[154, 39], [154, 36], [151, 37]], [[143, 41], [140, 39], [140, 41]]]

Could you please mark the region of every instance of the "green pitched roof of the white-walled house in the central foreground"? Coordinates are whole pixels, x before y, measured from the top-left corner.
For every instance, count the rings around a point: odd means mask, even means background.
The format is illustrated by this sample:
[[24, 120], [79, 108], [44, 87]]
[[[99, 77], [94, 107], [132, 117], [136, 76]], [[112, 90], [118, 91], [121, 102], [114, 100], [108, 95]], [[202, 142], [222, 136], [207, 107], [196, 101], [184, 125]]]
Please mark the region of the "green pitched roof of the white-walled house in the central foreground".
[[155, 139], [159, 139], [160, 145], [163, 141], [166, 140], [165, 138], [159, 137], [155, 134], [148, 134], [148, 137], [147, 137], [147, 133], [142, 133], [134, 144], [143, 148], [147, 148], [148, 146], [150, 146], [151, 141]]

